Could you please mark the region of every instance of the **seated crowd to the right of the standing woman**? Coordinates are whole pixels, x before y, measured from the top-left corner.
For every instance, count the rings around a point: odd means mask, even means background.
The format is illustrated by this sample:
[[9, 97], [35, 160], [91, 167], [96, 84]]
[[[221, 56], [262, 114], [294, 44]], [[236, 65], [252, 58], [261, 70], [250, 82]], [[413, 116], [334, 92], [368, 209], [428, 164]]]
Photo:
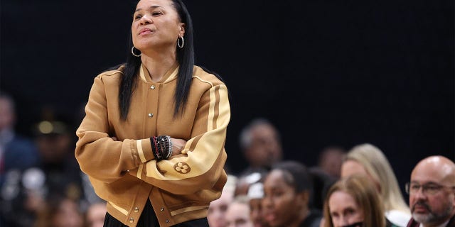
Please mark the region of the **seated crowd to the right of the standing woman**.
[[[230, 175], [227, 192], [210, 204], [210, 226], [455, 226], [455, 163], [446, 157], [417, 163], [406, 185], [408, 206], [390, 162], [374, 145], [347, 153], [327, 148], [318, 167], [306, 168], [281, 160], [279, 134], [264, 119], [245, 127], [240, 143], [250, 167]], [[240, 198], [249, 201], [249, 218]]]

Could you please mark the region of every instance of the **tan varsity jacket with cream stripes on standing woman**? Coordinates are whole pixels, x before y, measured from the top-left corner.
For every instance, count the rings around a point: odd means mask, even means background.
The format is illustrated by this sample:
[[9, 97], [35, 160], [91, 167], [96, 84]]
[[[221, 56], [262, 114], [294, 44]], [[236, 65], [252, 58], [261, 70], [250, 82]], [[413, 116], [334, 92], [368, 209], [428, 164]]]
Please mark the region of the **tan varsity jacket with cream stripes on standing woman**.
[[[184, 114], [173, 118], [177, 72], [175, 66], [154, 83], [141, 67], [126, 121], [120, 120], [118, 104], [122, 72], [103, 72], [95, 77], [76, 131], [81, 170], [107, 201], [109, 214], [127, 226], [136, 226], [147, 199], [160, 226], [203, 218], [227, 179], [228, 90], [195, 66]], [[149, 138], [158, 135], [187, 140], [182, 154], [156, 162]]]

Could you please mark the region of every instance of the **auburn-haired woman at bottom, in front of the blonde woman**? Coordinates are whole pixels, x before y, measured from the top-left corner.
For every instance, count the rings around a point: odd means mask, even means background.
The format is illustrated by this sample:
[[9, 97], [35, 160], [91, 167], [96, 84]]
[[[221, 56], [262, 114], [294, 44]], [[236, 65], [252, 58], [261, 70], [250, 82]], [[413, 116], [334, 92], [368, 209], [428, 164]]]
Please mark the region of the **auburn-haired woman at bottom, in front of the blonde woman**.
[[385, 226], [378, 192], [366, 177], [343, 178], [328, 189], [324, 202], [324, 227]]

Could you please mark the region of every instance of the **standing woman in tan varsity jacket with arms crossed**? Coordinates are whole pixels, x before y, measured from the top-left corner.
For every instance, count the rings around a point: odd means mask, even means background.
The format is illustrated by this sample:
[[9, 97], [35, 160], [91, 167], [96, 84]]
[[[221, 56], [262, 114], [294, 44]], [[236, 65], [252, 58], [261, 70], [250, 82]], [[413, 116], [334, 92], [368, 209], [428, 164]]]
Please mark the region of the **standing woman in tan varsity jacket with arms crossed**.
[[193, 66], [180, 0], [141, 0], [131, 54], [95, 78], [75, 156], [107, 201], [105, 226], [208, 226], [226, 182], [223, 82]]

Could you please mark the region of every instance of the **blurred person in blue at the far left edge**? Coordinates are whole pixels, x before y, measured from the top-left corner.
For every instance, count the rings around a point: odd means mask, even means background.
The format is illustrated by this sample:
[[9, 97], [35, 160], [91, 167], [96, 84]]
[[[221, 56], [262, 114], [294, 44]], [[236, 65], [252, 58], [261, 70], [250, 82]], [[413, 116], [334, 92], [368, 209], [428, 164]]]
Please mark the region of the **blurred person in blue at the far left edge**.
[[21, 209], [21, 176], [38, 163], [38, 151], [14, 132], [16, 120], [14, 100], [0, 93], [0, 226], [29, 226], [33, 221]]

